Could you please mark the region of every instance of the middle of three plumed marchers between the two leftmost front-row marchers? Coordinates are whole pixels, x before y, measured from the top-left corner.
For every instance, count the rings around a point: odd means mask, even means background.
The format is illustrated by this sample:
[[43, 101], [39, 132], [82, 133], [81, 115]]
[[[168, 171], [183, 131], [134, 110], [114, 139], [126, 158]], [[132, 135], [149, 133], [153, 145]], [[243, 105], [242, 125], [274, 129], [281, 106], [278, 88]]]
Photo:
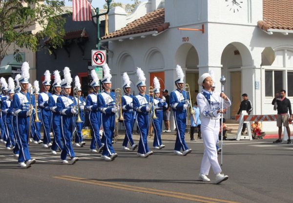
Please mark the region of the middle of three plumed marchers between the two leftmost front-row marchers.
[[44, 91], [39, 94], [38, 97], [38, 106], [41, 108], [41, 119], [42, 119], [42, 126], [44, 129], [44, 135], [43, 135], [43, 147], [48, 148], [51, 144], [51, 138], [50, 138], [50, 125], [51, 125], [51, 111], [48, 106], [48, 100], [51, 96], [51, 93], [49, 92], [50, 86], [51, 86], [51, 74], [48, 70], [44, 73], [45, 78], [42, 82], [44, 86]]

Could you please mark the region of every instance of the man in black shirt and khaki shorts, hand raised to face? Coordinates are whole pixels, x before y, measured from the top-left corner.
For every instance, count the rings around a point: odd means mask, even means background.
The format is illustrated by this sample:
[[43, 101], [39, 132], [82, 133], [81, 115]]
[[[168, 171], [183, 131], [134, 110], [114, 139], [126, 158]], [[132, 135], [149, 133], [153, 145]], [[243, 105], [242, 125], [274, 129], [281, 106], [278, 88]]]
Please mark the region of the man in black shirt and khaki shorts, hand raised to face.
[[[287, 144], [291, 144], [291, 139], [290, 139], [290, 128], [289, 128], [289, 120], [293, 119], [292, 115], [292, 110], [291, 110], [291, 102], [286, 96], [286, 91], [281, 90], [280, 93], [275, 94], [275, 98], [272, 100], [272, 105], [277, 103], [277, 111], [278, 111], [278, 117], [277, 117], [277, 127], [279, 128], [279, 139], [276, 141], [273, 141], [273, 143], [282, 143], [282, 124], [284, 127], [287, 129], [287, 134], [288, 134], [288, 140]], [[289, 114], [291, 117], [289, 118], [288, 115], [288, 110]]]

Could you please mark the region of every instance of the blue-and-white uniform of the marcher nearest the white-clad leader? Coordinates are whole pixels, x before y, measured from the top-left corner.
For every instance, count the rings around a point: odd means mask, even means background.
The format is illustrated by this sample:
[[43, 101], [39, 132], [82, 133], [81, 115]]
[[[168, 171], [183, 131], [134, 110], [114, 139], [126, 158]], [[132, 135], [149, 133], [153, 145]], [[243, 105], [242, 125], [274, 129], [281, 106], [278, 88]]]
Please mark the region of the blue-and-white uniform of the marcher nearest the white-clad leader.
[[[186, 100], [188, 99], [188, 94], [184, 90], [180, 91], [176, 89], [170, 94], [169, 104], [174, 112], [175, 125], [177, 129], [174, 148], [174, 150], [176, 151], [180, 151], [181, 148], [183, 149], [183, 151], [188, 149], [188, 146], [184, 139], [187, 116], [187, 110], [184, 109], [184, 104], [186, 104]], [[188, 107], [189, 106], [190, 104], [188, 104]]]

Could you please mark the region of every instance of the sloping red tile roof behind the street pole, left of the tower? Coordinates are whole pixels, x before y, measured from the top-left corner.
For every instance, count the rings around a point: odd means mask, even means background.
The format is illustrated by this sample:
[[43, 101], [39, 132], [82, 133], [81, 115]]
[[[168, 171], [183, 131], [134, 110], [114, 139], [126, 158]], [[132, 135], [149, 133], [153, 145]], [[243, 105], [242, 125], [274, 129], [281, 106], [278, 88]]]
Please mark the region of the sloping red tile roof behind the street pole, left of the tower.
[[160, 33], [168, 27], [169, 23], [165, 22], [165, 8], [160, 8], [128, 23], [120, 30], [109, 33], [109, 35], [102, 37], [102, 39], [122, 37], [150, 31], [157, 31]]

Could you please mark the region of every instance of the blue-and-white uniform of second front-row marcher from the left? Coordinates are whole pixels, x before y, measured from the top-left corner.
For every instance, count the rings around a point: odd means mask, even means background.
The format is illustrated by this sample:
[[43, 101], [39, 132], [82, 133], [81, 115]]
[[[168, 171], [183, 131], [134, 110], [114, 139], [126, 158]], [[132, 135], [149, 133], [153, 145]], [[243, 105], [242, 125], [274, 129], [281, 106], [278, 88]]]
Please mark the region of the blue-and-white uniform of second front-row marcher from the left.
[[61, 117], [61, 135], [63, 138], [63, 150], [61, 159], [66, 160], [67, 154], [72, 159], [75, 157], [71, 145], [72, 135], [74, 131], [75, 116], [72, 114], [72, 107], [76, 105], [72, 96], [61, 95], [57, 98], [56, 112], [60, 113]]

